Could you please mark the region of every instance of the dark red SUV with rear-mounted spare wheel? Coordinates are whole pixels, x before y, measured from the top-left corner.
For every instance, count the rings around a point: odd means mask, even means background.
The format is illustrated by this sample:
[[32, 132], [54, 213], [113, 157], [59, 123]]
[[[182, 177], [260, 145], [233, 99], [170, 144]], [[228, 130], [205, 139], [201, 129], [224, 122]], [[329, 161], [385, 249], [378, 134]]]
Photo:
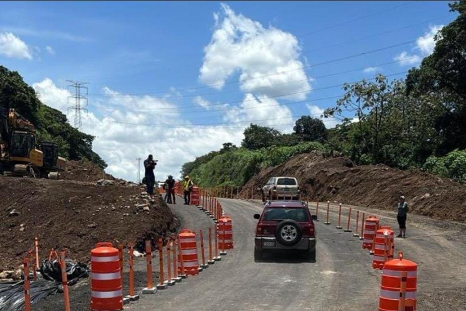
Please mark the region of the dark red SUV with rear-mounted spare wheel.
[[254, 260], [262, 259], [264, 251], [297, 249], [315, 260], [315, 228], [306, 204], [302, 201], [268, 201], [256, 227]]

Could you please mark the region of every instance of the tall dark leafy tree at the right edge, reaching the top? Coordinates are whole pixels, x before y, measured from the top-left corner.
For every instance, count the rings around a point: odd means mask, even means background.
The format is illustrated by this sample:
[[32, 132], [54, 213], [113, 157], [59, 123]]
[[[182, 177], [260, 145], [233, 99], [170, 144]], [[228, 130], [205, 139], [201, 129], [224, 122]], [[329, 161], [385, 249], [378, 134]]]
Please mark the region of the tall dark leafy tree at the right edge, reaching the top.
[[409, 70], [407, 94], [435, 94], [442, 113], [435, 128], [443, 139], [438, 154], [466, 148], [466, 1], [455, 1], [450, 11], [459, 16], [435, 36], [435, 48], [419, 68]]

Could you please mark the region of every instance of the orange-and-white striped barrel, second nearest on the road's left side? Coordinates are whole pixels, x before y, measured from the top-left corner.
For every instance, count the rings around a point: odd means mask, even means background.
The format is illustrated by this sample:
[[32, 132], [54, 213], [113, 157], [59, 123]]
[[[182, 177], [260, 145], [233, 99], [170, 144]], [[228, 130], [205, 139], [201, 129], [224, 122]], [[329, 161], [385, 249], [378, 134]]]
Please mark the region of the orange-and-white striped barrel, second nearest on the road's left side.
[[[178, 253], [179, 274], [199, 274], [199, 258], [197, 256], [196, 234], [188, 229], [183, 229], [178, 235], [178, 243], [181, 251]], [[182, 265], [181, 261], [182, 260]], [[182, 267], [182, 268], [181, 268]], [[184, 269], [184, 271], [182, 271]]]

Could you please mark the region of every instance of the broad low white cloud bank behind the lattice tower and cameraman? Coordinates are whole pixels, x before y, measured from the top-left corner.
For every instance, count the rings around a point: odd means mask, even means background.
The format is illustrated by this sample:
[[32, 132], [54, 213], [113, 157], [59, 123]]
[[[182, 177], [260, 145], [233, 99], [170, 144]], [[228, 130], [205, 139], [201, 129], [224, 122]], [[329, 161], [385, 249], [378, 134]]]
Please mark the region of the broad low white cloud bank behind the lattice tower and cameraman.
[[[69, 96], [66, 89], [57, 87], [48, 78], [34, 83], [33, 87], [40, 91], [45, 103], [66, 113]], [[109, 95], [108, 98], [97, 101], [95, 106], [115, 107], [115, 110], [103, 110], [90, 105], [89, 113], [82, 114], [82, 124], [84, 132], [96, 136], [93, 150], [109, 165], [106, 171], [116, 177], [134, 181], [137, 176], [136, 158], [144, 159], [150, 153], [159, 160], [155, 171], [156, 179], [165, 180], [169, 174], [176, 177], [183, 163], [211, 150], [220, 149], [226, 141], [234, 144], [241, 142], [242, 130], [238, 130], [237, 125], [190, 125], [180, 120], [176, 105], [166, 98], [125, 95], [108, 87], [104, 92]], [[126, 108], [141, 111], [127, 111]], [[162, 113], [162, 109], [167, 112]], [[68, 119], [73, 120], [73, 115], [68, 115]], [[186, 125], [171, 126], [174, 122]], [[143, 174], [142, 166], [141, 171]]]

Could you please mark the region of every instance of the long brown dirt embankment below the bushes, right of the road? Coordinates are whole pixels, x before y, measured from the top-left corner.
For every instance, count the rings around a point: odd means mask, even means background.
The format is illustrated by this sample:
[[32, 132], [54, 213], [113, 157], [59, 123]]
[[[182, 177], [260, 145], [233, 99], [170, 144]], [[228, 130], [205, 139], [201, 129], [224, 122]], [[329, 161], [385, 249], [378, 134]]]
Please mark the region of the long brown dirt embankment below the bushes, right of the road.
[[261, 171], [240, 195], [260, 197], [270, 177], [296, 177], [304, 195], [316, 200], [395, 209], [405, 195], [414, 213], [438, 219], [466, 221], [466, 185], [420, 171], [402, 171], [384, 165], [355, 166], [345, 157], [324, 158], [319, 152], [300, 154], [286, 163]]

